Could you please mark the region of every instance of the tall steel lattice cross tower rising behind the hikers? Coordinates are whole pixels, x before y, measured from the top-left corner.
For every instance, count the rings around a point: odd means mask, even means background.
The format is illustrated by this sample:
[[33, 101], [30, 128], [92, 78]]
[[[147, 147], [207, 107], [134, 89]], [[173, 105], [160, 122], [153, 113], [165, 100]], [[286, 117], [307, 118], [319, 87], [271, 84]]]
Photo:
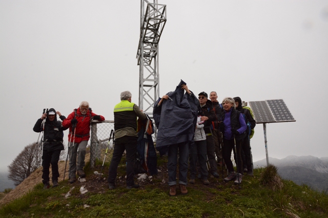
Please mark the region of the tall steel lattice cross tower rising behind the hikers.
[[[145, 8], [146, 7], [146, 8]], [[139, 65], [139, 108], [153, 117], [159, 95], [158, 43], [166, 23], [166, 5], [141, 0]]]

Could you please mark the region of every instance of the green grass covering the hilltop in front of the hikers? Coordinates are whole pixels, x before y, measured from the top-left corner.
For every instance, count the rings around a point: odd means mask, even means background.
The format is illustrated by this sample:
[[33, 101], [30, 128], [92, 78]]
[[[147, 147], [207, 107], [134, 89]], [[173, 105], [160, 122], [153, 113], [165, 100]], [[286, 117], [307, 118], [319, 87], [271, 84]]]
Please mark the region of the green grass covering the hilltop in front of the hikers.
[[[166, 164], [166, 159], [159, 158], [159, 164]], [[97, 168], [102, 163], [99, 160]], [[124, 163], [122, 159], [118, 176], [125, 173]], [[108, 165], [103, 169], [107, 171]], [[92, 172], [87, 166], [87, 176]], [[211, 182], [214, 186], [189, 185], [188, 195], [175, 197], [168, 195], [168, 186], [163, 188], [156, 180], [139, 189], [118, 187], [85, 195], [80, 195], [76, 184], [67, 199], [64, 196], [72, 187], [67, 182], [47, 190], [38, 184], [24, 197], [0, 208], [0, 217], [327, 217], [326, 192], [279, 179], [274, 169], [259, 168], [254, 178], [243, 177], [240, 189], [220, 179]]]

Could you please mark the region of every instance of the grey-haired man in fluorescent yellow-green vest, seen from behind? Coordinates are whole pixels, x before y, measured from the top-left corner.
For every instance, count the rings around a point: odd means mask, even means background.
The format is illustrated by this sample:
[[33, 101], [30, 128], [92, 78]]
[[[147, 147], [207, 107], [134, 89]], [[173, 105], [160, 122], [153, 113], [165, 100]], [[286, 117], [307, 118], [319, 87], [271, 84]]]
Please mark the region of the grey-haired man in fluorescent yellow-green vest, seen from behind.
[[127, 159], [127, 188], [139, 187], [139, 184], [135, 184], [133, 180], [138, 139], [137, 117], [142, 120], [147, 117], [136, 104], [131, 102], [131, 97], [130, 91], [121, 92], [121, 102], [114, 107], [115, 145], [108, 173], [109, 189], [115, 188], [117, 166], [124, 151]]

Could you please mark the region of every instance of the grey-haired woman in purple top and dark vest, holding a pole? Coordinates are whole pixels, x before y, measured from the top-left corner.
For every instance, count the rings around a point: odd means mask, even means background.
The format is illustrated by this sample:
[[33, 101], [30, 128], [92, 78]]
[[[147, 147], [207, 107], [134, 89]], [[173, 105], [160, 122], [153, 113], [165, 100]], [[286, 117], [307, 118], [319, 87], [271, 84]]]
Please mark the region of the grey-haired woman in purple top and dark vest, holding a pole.
[[[221, 115], [220, 131], [223, 133], [222, 156], [226, 162], [229, 175], [224, 178], [225, 182], [235, 180], [235, 185], [241, 183], [242, 177], [242, 159], [241, 144], [246, 137], [247, 129], [242, 113], [235, 110], [235, 100], [233, 98], [224, 98], [222, 101], [223, 112]], [[235, 151], [236, 146], [236, 151]], [[231, 161], [231, 150], [234, 151], [237, 162], [237, 173]]]

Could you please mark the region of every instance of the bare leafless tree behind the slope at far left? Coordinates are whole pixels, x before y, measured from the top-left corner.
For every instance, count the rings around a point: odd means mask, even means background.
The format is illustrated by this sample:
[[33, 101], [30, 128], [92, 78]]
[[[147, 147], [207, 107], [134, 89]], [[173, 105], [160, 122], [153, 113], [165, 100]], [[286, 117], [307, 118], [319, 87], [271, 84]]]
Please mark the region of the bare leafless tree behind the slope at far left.
[[42, 164], [42, 151], [36, 142], [28, 144], [8, 166], [8, 179], [17, 186]]

